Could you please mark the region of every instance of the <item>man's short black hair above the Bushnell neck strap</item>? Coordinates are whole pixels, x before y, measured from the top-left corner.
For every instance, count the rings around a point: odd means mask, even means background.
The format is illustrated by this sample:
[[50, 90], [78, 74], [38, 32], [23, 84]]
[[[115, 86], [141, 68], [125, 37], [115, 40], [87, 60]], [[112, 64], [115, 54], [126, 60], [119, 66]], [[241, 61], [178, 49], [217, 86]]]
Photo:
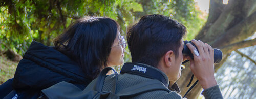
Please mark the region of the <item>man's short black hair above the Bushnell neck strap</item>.
[[185, 35], [186, 27], [170, 17], [158, 14], [141, 17], [138, 23], [127, 30], [126, 39], [132, 62], [157, 67], [160, 59], [169, 50], [177, 58], [181, 39]]

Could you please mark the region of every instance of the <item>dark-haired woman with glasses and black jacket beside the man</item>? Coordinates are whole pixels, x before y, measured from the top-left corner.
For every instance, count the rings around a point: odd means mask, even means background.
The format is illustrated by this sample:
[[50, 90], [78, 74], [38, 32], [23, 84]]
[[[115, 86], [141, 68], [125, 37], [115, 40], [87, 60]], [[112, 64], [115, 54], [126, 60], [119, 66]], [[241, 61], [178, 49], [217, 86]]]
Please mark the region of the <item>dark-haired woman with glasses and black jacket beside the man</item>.
[[[15, 91], [5, 92], [10, 92], [11, 98], [38, 98], [40, 90], [61, 81], [84, 89], [103, 68], [123, 63], [126, 42], [119, 29], [110, 18], [84, 17], [55, 39], [55, 47], [33, 41], [18, 64], [13, 82], [7, 81]], [[1, 87], [8, 86], [6, 83]]]

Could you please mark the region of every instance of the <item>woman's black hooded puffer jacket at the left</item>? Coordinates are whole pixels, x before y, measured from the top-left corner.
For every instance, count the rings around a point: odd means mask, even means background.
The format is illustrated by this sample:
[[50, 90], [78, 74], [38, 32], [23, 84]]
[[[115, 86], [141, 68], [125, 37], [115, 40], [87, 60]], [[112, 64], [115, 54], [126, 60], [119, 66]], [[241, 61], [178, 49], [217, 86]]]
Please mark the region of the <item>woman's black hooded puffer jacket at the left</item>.
[[12, 87], [18, 98], [38, 98], [42, 89], [61, 81], [84, 89], [91, 82], [85, 75], [75, 61], [54, 47], [33, 41], [18, 63]]

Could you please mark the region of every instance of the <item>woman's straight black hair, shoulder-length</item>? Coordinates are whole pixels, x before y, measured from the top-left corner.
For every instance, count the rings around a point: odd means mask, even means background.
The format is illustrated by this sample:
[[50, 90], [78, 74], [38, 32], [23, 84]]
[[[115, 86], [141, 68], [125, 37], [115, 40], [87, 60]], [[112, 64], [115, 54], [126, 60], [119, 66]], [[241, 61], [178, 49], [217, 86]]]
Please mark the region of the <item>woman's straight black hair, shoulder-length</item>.
[[55, 38], [55, 49], [76, 61], [86, 76], [94, 79], [106, 67], [119, 29], [110, 18], [80, 18]]

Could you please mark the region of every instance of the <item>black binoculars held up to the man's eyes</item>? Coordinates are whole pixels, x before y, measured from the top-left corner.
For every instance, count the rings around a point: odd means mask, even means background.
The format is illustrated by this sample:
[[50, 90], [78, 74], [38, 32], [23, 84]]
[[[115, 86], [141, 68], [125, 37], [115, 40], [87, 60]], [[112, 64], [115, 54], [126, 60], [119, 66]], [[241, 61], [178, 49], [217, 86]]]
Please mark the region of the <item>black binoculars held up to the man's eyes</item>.
[[[182, 50], [182, 54], [183, 55], [188, 55], [189, 57], [191, 57], [192, 59], [194, 59], [193, 54], [191, 53], [191, 51], [189, 50], [189, 48], [187, 47], [187, 43], [192, 44], [193, 46], [196, 47], [195, 44], [193, 44], [191, 41], [183, 41], [184, 42], [184, 48]], [[197, 49], [197, 47], [196, 47]], [[198, 50], [198, 49], [197, 49]], [[200, 54], [200, 53], [199, 53]], [[216, 49], [214, 48], [214, 63], [219, 63], [221, 62], [222, 59], [222, 51], [220, 49]]]

